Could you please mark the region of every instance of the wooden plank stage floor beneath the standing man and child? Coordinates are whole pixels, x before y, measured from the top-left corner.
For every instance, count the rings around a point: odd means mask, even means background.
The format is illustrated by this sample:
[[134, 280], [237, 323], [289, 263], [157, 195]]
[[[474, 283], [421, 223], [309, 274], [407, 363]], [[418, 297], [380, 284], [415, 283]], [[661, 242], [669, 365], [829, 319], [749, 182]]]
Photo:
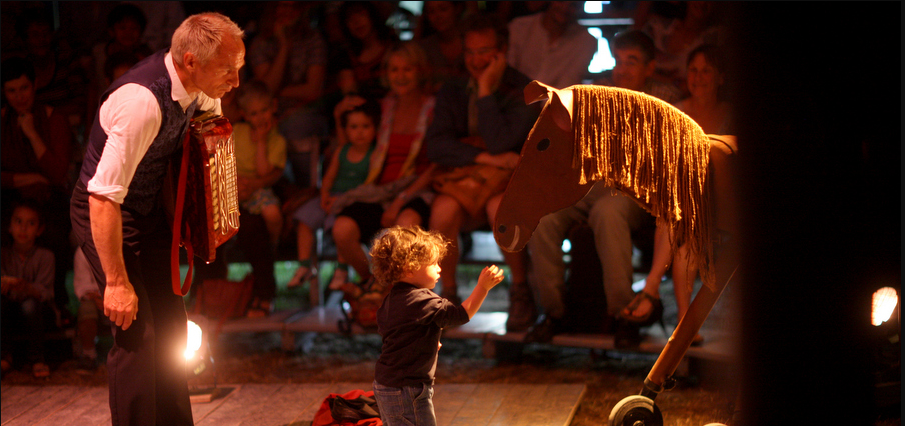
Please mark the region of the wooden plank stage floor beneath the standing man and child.
[[[209, 403], [193, 403], [196, 425], [309, 425], [331, 393], [371, 389], [370, 383], [223, 385]], [[583, 384], [437, 384], [439, 425], [565, 426], [585, 392]], [[109, 425], [107, 388], [3, 386], [0, 424]]]

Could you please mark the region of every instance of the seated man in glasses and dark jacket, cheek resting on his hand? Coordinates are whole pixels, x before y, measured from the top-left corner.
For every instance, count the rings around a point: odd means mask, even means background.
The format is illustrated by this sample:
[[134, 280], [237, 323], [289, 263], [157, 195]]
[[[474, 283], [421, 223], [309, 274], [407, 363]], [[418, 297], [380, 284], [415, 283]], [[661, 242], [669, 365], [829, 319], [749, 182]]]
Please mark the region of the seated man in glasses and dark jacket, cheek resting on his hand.
[[[434, 122], [425, 137], [428, 156], [439, 166], [474, 164], [514, 169], [522, 144], [539, 109], [525, 105], [528, 77], [506, 63], [508, 30], [490, 15], [470, 16], [463, 31], [469, 77], [452, 79], [437, 94]], [[466, 210], [455, 197], [438, 194], [431, 206], [430, 229], [449, 241], [449, 256], [441, 260], [442, 295], [458, 301], [456, 265], [459, 232], [493, 223], [502, 190], [485, 205]], [[504, 253], [511, 271], [510, 329], [530, 325], [533, 308], [527, 286], [525, 253]], [[525, 313], [524, 311], [529, 311]], [[522, 323], [522, 324], [519, 324]]]

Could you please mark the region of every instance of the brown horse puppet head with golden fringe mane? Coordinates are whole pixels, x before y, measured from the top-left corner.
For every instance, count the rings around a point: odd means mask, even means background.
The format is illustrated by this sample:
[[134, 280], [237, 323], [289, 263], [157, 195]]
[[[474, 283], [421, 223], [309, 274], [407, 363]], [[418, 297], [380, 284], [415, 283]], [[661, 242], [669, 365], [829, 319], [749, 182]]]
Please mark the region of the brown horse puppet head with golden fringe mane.
[[688, 242], [708, 282], [711, 142], [700, 126], [666, 102], [613, 87], [559, 90], [533, 81], [525, 102], [538, 101], [546, 103], [496, 215], [500, 247], [523, 249], [543, 216], [575, 204], [600, 182], [670, 225], [673, 248]]

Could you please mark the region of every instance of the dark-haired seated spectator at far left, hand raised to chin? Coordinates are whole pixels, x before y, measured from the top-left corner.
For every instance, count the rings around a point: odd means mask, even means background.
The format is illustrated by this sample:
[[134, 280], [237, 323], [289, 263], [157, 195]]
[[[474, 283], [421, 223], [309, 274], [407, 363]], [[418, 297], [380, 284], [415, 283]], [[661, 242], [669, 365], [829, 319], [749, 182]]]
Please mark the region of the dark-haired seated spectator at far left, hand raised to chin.
[[2, 216], [8, 223], [9, 206], [21, 199], [35, 200], [46, 210], [42, 241], [55, 255], [55, 298], [57, 307], [62, 308], [69, 300], [66, 271], [72, 259], [67, 219], [72, 132], [59, 109], [35, 99], [35, 73], [29, 60], [13, 57], [4, 61], [2, 80], [6, 104], [0, 113]]

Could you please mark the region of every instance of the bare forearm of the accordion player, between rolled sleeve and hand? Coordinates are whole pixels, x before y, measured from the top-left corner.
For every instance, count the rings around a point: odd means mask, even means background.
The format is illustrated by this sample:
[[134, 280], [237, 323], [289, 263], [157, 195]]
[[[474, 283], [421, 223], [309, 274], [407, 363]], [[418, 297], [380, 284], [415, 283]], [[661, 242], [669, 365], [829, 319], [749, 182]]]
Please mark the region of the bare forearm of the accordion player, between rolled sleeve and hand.
[[123, 218], [120, 205], [107, 198], [91, 195], [88, 199], [91, 235], [104, 269], [107, 285], [128, 282], [123, 260]]

